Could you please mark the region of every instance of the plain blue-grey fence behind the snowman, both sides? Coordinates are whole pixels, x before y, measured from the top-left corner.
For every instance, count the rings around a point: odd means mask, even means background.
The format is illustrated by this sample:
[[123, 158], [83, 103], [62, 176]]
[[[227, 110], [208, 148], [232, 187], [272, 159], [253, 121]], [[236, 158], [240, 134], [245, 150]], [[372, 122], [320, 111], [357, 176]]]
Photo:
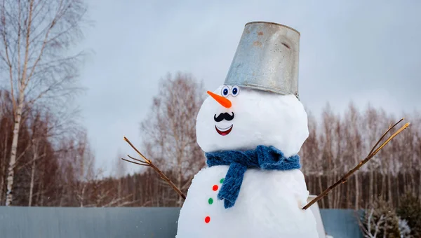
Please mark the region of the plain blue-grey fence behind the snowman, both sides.
[[[0, 207], [1, 238], [175, 237], [179, 208]], [[362, 237], [354, 212], [321, 209], [326, 232]]]

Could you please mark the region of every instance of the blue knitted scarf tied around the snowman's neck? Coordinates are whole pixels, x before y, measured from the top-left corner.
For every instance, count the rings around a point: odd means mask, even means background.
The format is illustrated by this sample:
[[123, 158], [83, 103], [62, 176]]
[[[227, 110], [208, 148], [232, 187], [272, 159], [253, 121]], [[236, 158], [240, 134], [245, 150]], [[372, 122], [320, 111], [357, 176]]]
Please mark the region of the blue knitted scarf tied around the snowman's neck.
[[258, 146], [250, 151], [218, 151], [205, 153], [208, 167], [229, 165], [224, 183], [218, 193], [218, 199], [224, 200], [224, 207], [233, 207], [240, 193], [243, 176], [247, 169], [300, 169], [300, 157], [293, 155], [285, 158], [274, 146]]

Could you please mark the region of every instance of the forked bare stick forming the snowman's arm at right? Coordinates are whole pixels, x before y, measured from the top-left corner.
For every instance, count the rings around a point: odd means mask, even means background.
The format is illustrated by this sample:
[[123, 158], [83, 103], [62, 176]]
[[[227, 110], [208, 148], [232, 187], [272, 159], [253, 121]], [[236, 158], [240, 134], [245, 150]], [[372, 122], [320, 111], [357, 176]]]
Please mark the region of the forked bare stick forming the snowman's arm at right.
[[[399, 120], [398, 123], [400, 123], [402, 120]], [[395, 127], [396, 125], [398, 125], [398, 123], [396, 123], [395, 125], [393, 125], [392, 127], [389, 127], [389, 129], [387, 130], [387, 132], [389, 132], [390, 130], [392, 130], [393, 127]], [[409, 126], [409, 123], [406, 123], [405, 125], [403, 125], [403, 127], [401, 127], [399, 130], [397, 130], [394, 134], [392, 134], [392, 136], [390, 136], [381, 146], [379, 146], [377, 149], [375, 150], [371, 150], [371, 153], [368, 154], [368, 156], [364, 159], [361, 160], [361, 162], [359, 162], [358, 165], [356, 165], [356, 167], [354, 167], [354, 169], [351, 169], [347, 174], [345, 174], [345, 176], [342, 177], [342, 179], [338, 180], [336, 183], [334, 183], [332, 186], [330, 186], [329, 188], [327, 188], [326, 190], [324, 190], [320, 195], [318, 195], [316, 198], [314, 198], [314, 200], [312, 200], [311, 202], [309, 202], [307, 205], [305, 205], [305, 207], [303, 207], [302, 209], [308, 209], [310, 206], [312, 206], [312, 204], [316, 203], [317, 201], [321, 200], [324, 196], [328, 195], [328, 193], [333, 190], [333, 188], [335, 188], [336, 186], [340, 185], [341, 183], [346, 183], [347, 179], [349, 176], [351, 176], [352, 174], [354, 174], [354, 172], [356, 172], [357, 170], [360, 169], [361, 166], [363, 166], [364, 164], [366, 164], [366, 162], [368, 162], [368, 160], [370, 160], [371, 158], [373, 158], [373, 156], [378, 153], [384, 146], [386, 146], [386, 144], [389, 143], [389, 141], [391, 141], [394, 137], [396, 137], [399, 133], [403, 132], [403, 130], [405, 130], [407, 127]], [[387, 134], [387, 132], [385, 134]], [[380, 138], [380, 140], [385, 137], [385, 134], [383, 134], [383, 136]], [[378, 143], [377, 143], [378, 144]], [[377, 146], [376, 144], [376, 146]], [[375, 148], [375, 146], [373, 147]], [[373, 152], [374, 151], [374, 152]]]

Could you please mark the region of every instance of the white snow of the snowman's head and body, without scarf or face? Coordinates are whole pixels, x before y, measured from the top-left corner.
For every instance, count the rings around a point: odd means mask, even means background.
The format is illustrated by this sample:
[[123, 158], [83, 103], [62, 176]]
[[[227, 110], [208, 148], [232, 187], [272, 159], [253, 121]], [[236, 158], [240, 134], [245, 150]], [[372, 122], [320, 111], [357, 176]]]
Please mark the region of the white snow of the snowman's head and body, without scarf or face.
[[[221, 89], [215, 94], [221, 95]], [[241, 88], [236, 97], [227, 98], [232, 102], [229, 109], [212, 97], [203, 102], [196, 120], [203, 151], [246, 151], [259, 145], [274, 146], [286, 157], [300, 151], [309, 132], [307, 113], [295, 96]], [[234, 113], [234, 119], [217, 123], [214, 116], [220, 113]], [[225, 136], [215, 130], [231, 125]], [[228, 168], [207, 167], [194, 176], [176, 238], [318, 237], [311, 209], [302, 210], [309, 192], [299, 169], [247, 169], [235, 206], [225, 209], [217, 196]]]

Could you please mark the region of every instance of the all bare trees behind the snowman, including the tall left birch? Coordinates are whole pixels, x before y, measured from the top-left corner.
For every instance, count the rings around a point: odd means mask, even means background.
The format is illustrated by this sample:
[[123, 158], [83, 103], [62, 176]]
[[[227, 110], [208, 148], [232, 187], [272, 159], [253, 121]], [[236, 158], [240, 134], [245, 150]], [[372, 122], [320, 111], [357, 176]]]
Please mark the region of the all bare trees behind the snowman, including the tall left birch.
[[[88, 130], [72, 108], [86, 56], [75, 52], [74, 45], [90, 25], [88, 5], [79, 0], [41, 2], [0, 4], [0, 204], [181, 206], [182, 199], [150, 168], [126, 175], [128, 162], [116, 158], [114, 176], [104, 178], [95, 167]], [[168, 74], [140, 127], [142, 153], [184, 193], [206, 165], [195, 132], [205, 97], [206, 90], [193, 76]], [[341, 115], [326, 106], [319, 116], [316, 120], [309, 114], [310, 136], [300, 151], [313, 195], [357, 165], [399, 120], [382, 109], [360, 110], [352, 104]], [[359, 209], [377, 198], [396, 207], [403, 193], [421, 198], [421, 117], [403, 116], [411, 122], [409, 129], [323, 198], [320, 207]]]

